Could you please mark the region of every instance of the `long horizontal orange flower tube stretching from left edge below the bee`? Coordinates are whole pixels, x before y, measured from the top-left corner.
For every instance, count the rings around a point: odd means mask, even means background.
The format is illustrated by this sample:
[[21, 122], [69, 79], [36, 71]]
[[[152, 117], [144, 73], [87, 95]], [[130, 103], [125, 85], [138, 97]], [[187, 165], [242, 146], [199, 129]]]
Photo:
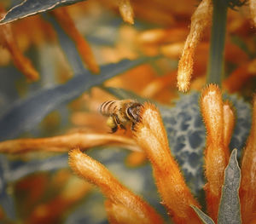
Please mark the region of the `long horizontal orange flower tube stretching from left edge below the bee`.
[[98, 133], [74, 133], [41, 139], [17, 139], [0, 142], [0, 152], [20, 153], [31, 151], [65, 152], [73, 147], [81, 149], [105, 145], [125, 146], [131, 151], [141, 152], [141, 149], [131, 138], [120, 135]]

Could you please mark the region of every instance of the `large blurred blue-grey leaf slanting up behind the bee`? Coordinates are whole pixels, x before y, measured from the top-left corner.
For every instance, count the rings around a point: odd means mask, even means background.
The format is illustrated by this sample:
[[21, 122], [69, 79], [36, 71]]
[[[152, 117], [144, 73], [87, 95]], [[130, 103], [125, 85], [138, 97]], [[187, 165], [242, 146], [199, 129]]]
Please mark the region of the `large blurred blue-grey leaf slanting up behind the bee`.
[[0, 141], [15, 138], [21, 132], [32, 129], [57, 106], [72, 101], [87, 89], [143, 62], [145, 58], [121, 60], [116, 64], [102, 66], [100, 75], [84, 71], [84, 74], [76, 75], [65, 84], [42, 89], [25, 100], [16, 101], [0, 118]]

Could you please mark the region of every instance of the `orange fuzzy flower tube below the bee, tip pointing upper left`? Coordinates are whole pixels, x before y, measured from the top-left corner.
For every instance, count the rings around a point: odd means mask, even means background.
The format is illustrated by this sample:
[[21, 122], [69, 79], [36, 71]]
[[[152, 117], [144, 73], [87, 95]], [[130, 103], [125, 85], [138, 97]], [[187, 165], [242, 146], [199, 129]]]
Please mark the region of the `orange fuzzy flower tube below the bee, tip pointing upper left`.
[[[150, 205], [121, 185], [102, 164], [80, 152], [79, 149], [69, 152], [69, 165], [77, 175], [100, 187], [112, 206], [120, 204], [119, 210], [125, 210], [127, 215], [137, 216], [137, 220], [142, 221], [138, 223], [163, 223], [160, 215]], [[114, 209], [118, 210], [116, 207]], [[129, 220], [129, 216], [123, 216], [122, 219]]]

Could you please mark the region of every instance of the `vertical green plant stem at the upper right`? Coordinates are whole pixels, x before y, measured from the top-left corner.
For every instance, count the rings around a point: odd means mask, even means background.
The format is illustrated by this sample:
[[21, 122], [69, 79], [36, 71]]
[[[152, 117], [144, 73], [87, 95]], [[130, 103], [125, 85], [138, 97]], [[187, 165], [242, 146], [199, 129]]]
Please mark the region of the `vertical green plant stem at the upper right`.
[[207, 83], [221, 85], [224, 73], [224, 43], [228, 5], [222, 0], [212, 0], [212, 34], [207, 67]]

